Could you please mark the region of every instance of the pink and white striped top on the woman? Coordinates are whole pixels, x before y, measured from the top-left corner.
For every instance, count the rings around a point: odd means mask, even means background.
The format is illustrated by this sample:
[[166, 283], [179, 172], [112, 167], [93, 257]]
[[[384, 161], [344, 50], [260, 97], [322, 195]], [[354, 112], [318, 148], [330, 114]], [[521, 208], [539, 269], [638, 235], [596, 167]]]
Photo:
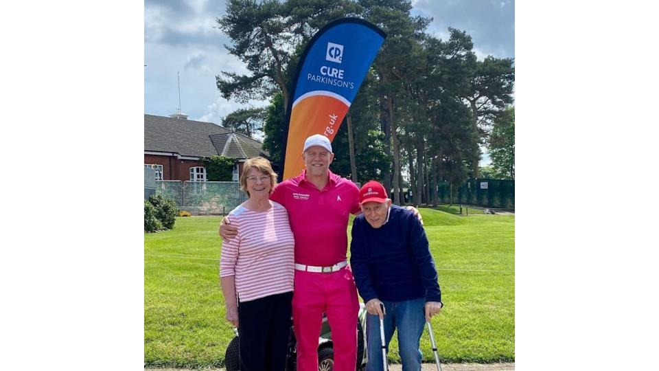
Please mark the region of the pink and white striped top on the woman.
[[293, 232], [284, 206], [273, 201], [265, 212], [242, 205], [229, 213], [238, 235], [222, 243], [220, 277], [235, 276], [240, 302], [293, 291]]

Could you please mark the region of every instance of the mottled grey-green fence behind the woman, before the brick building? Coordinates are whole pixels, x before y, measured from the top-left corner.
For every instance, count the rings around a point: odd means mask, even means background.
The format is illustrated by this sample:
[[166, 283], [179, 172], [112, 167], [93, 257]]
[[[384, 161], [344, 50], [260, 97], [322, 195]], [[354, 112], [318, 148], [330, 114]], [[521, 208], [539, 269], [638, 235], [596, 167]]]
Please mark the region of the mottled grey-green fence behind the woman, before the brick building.
[[193, 215], [227, 214], [247, 199], [237, 181], [156, 181], [156, 193]]

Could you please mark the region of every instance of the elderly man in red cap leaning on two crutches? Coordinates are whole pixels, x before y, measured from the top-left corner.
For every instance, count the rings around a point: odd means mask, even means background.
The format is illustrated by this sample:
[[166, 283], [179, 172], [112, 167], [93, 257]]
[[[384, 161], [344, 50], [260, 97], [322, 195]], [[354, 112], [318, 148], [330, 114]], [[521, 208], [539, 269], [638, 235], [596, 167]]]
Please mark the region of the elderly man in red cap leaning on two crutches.
[[413, 212], [391, 205], [377, 181], [366, 183], [359, 197], [362, 214], [352, 225], [350, 265], [369, 312], [366, 370], [384, 370], [378, 317], [384, 317], [387, 347], [398, 328], [403, 370], [421, 370], [425, 322], [443, 306], [428, 238]]

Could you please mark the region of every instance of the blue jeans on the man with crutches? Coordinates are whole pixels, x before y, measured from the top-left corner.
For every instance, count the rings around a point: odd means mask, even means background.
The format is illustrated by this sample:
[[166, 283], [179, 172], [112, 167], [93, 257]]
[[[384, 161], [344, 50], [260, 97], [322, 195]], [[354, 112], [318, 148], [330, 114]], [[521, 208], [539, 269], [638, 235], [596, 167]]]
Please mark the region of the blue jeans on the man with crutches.
[[[384, 344], [389, 351], [389, 341], [393, 330], [398, 329], [398, 351], [403, 371], [421, 370], [421, 350], [419, 340], [424, 333], [426, 314], [424, 305], [426, 298], [405, 300], [403, 302], [383, 302], [384, 311]], [[384, 371], [382, 364], [382, 340], [380, 340], [380, 318], [377, 315], [366, 317], [366, 339], [369, 361], [366, 371]]]

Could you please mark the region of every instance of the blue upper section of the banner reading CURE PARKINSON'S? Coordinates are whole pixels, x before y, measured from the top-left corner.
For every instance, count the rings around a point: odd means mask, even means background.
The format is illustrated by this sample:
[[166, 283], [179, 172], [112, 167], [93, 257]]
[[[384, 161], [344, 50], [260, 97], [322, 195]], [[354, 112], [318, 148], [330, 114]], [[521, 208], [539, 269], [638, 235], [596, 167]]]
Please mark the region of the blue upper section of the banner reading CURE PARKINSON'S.
[[378, 32], [360, 23], [329, 28], [308, 51], [293, 102], [310, 91], [331, 91], [352, 102], [383, 42]]

